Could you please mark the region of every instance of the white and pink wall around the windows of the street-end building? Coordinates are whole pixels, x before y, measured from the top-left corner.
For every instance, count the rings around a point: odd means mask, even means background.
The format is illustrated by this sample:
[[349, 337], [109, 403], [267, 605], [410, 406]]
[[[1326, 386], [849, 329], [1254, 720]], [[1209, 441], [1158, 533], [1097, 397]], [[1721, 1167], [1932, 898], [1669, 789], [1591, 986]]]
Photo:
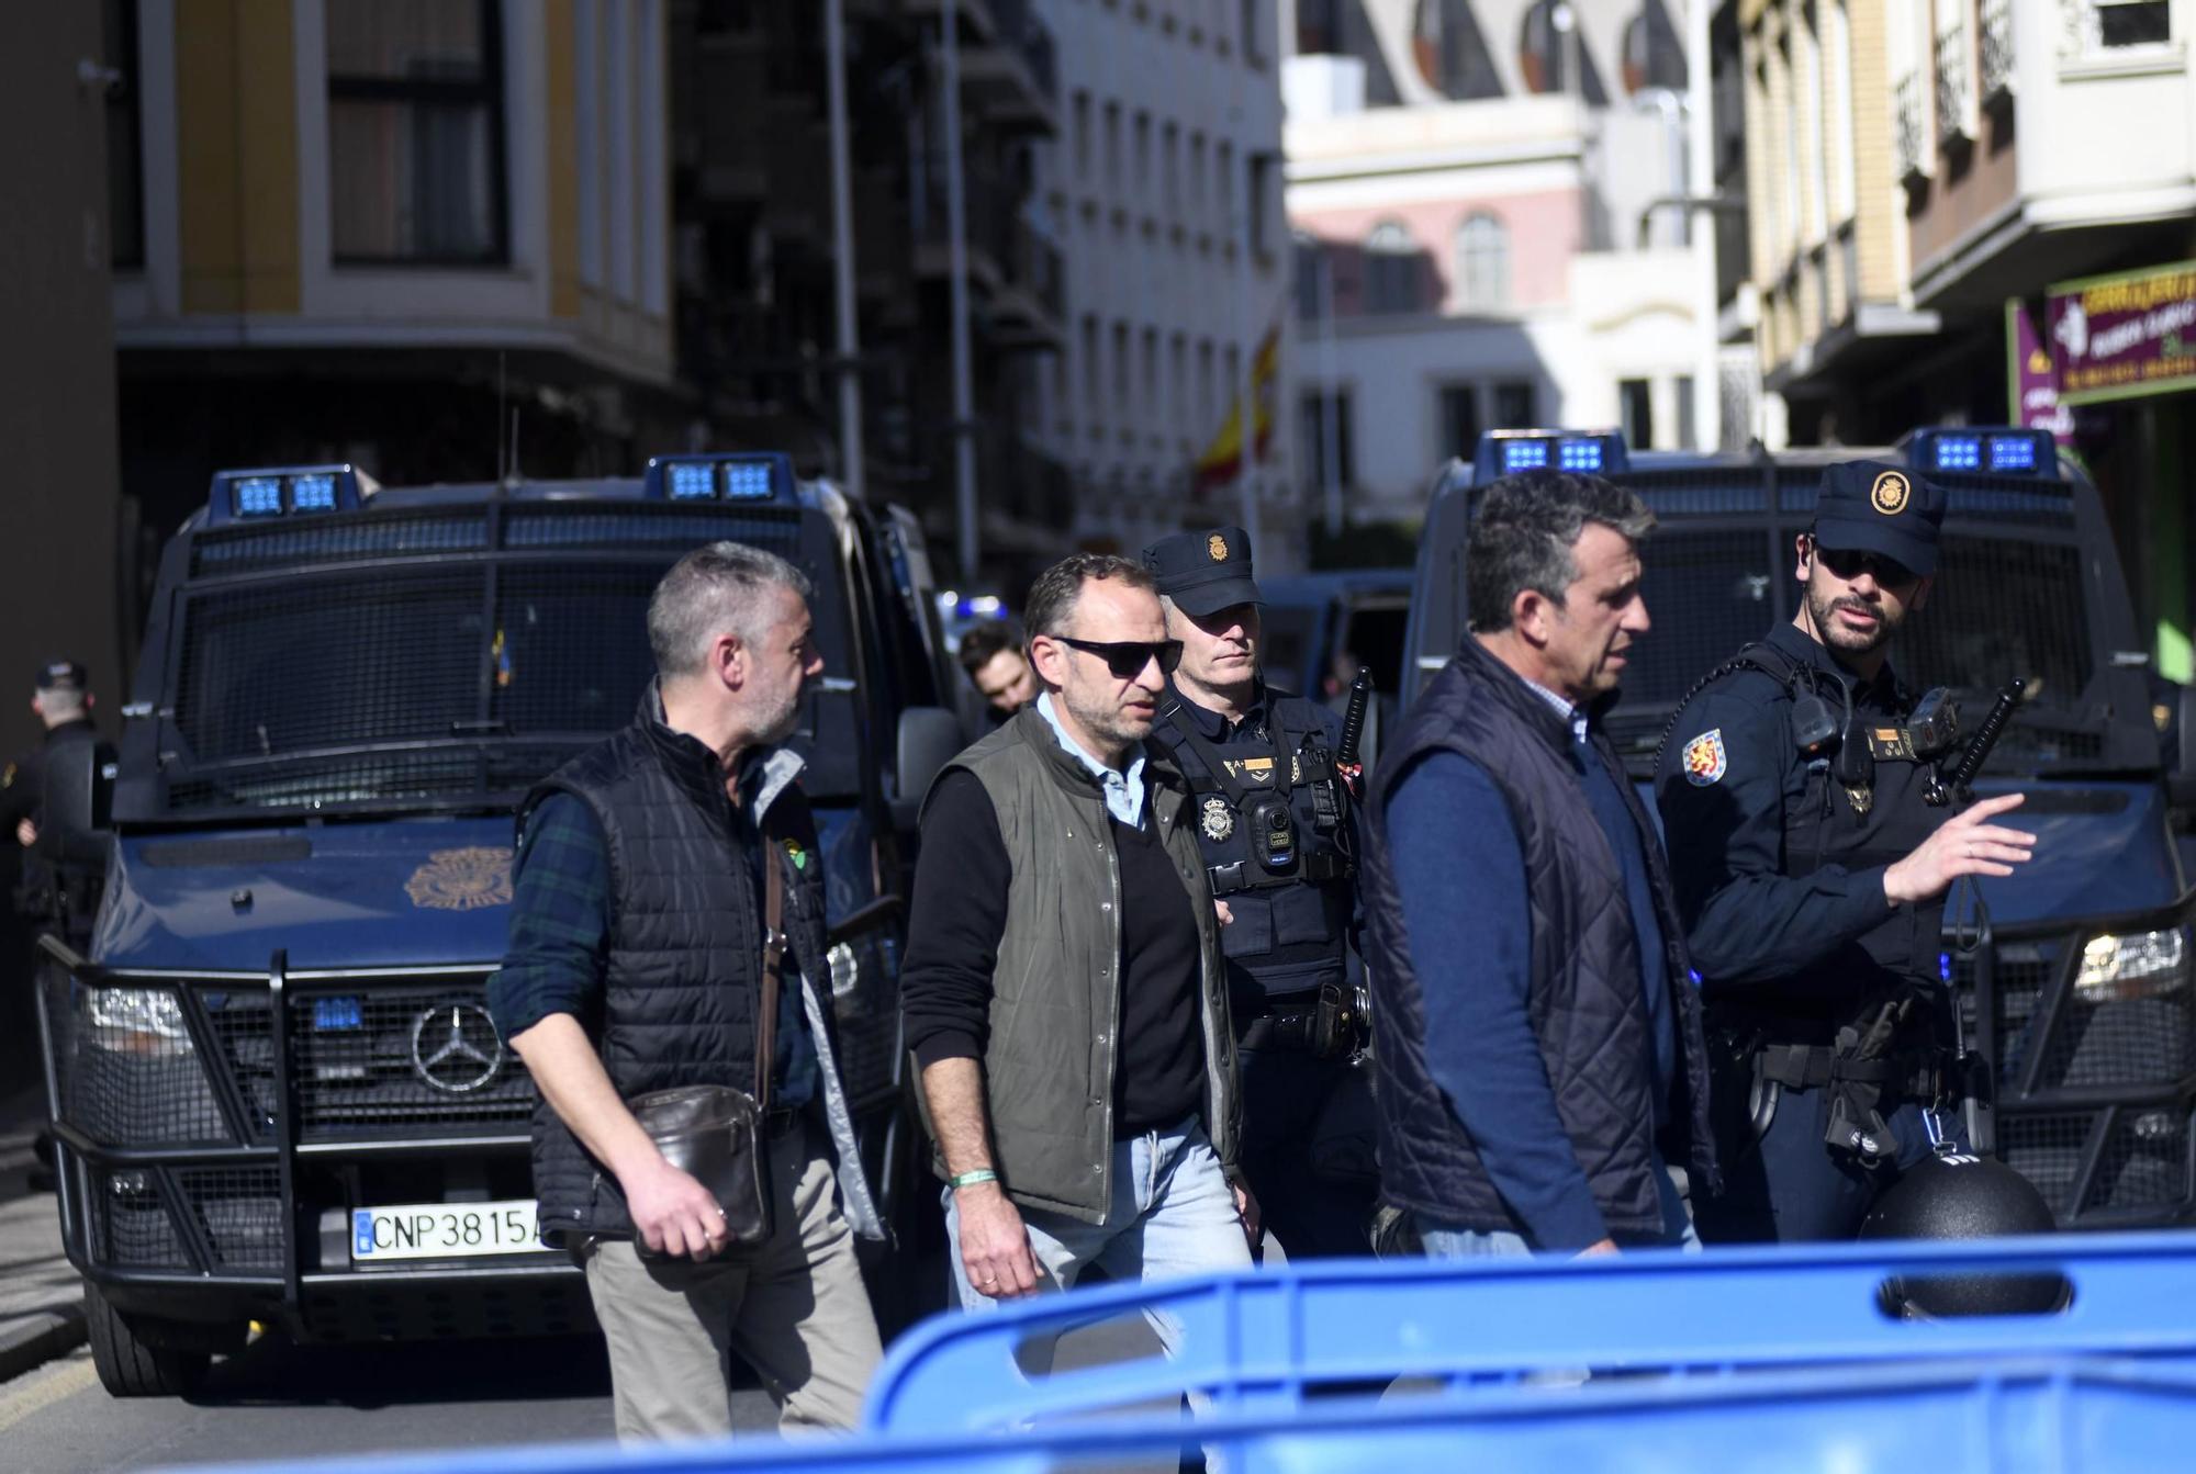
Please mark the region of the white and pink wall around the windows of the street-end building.
[[[1445, 390], [1476, 390], [1478, 428], [1500, 428], [1495, 395], [1533, 386], [1542, 426], [1623, 423], [1625, 382], [1645, 384], [1651, 447], [1693, 443], [1691, 415], [1713, 301], [1702, 296], [1682, 213], [1640, 222], [1656, 200], [1689, 193], [1687, 118], [1623, 88], [1623, 35], [1636, 0], [1575, 0], [1579, 46], [1607, 105], [1533, 94], [1520, 64], [1531, 0], [1471, 7], [1504, 97], [1447, 101], [1416, 72], [1414, 0], [1364, 0], [1394, 107], [1348, 112], [1355, 79], [1333, 57], [1291, 59], [1291, 97], [1307, 107], [1287, 125], [1289, 217], [1296, 230], [1357, 252], [1377, 222], [1401, 224], [1438, 276], [1421, 311], [1370, 314], [1348, 303], [1331, 325], [1298, 322], [1298, 401], [1291, 430], [1311, 504], [1322, 467], [1307, 430], [1309, 404], [1329, 384], [1346, 393], [1351, 447], [1344, 511], [1353, 520], [1414, 520], [1449, 443]], [[1682, 35], [1684, 4], [1665, 0]], [[1351, 66], [1351, 64], [1344, 64]], [[1342, 99], [1342, 112], [1335, 112]], [[1676, 99], [1673, 99], [1676, 101]], [[1491, 213], [1509, 230], [1511, 301], [1467, 307], [1454, 257], [1456, 228]], [[1698, 250], [1708, 230], [1695, 228]], [[1713, 279], [1711, 279], [1713, 281]]]

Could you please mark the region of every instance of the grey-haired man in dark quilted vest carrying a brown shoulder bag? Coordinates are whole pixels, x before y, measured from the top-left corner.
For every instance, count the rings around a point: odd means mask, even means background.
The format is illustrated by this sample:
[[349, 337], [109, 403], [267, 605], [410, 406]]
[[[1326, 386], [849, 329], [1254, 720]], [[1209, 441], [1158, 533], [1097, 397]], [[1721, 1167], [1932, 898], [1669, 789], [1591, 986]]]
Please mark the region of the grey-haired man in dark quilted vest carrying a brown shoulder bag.
[[[848, 1428], [881, 1356], [854, 1235], [883, 1228], [832, 1064], [824, 866], [777, 746], [824, 671], [808, 597], [775, 553], [679, 559], [648, 605], [657, 680], [632, 724], [520, 805], [488, 1002], [542, 1095], [540, 1231], [586, 1268], [624, 1439], [731, 1432], [727, 1349], [782, 1426]], [[786, 943], [758, 1130], [771, 1233], [727, 1255], [722, 1206], [626, 1101], [762, 1084], [766, 864]]]

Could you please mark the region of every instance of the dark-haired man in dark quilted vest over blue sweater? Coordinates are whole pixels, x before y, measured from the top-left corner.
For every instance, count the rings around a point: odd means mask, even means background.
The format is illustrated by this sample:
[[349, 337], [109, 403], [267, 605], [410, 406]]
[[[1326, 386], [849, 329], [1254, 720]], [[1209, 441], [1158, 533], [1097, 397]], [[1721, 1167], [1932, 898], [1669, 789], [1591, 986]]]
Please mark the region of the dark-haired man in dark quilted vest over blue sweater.
[[1640, 500], [1491, 485], [1471, 627], [1381, 755], [1366, 919], [1381, 1195], [1434, 1257], [1698, 1246], [1706, 1046], [1647, 812], [1596, 715], [1647, 634]]

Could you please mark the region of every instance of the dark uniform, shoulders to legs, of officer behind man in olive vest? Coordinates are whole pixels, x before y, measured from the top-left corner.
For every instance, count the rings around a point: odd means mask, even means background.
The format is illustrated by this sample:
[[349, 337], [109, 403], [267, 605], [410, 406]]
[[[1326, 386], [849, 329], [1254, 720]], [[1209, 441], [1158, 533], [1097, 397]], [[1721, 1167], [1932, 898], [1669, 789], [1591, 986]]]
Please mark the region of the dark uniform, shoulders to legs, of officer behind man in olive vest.
[[[1313, 1167], [1322, 1119], [1362, 1084], [1348, 1048], [1322, 1057], [1313, 1040], [1320, 989], [1348, 996], [1355, 882], [1344, 873], [1335, 818], [1320, 814], [1315, 792], [1315, 779], [1333, 770], [1340, 719], [1315, 702], [1263, 693], [1228, 730], [1223, 717], [1170, 691], [1153, 737], [1175, 752], [1195, 790], [1212, 895], [1234, 915], [1221, 928], [1221, 948], [1243, 1086], [1241, 1167], [1263, 1222], [1291, 1259], [1370, 1252], [1370, 1171], [1355, 1180]], [[1296, 855], [1289, 871], [1256, 853], [1265, 801], [1287, 805]], [[1370, 1112], [1364, 1125], [1370, 1143]]]

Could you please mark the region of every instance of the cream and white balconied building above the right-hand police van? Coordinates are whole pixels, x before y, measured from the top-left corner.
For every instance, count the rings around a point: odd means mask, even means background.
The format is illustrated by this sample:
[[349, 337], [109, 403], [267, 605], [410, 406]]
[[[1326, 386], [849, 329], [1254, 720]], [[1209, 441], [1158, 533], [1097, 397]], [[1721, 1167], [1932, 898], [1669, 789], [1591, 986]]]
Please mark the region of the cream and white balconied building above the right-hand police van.
[[2139, 318], [2196, 318], [2196, 292], [2176, 287], [2196, 281], [2196, 4], [1726, 9], [1768, 439], [2051, 426], [2104, 491], [2159, 669], [2187, 678], [2192, 379], [2073, 375], [2095, 351], [2062, 305], [2108, 279], [2113, 301], [2150, 303]]

